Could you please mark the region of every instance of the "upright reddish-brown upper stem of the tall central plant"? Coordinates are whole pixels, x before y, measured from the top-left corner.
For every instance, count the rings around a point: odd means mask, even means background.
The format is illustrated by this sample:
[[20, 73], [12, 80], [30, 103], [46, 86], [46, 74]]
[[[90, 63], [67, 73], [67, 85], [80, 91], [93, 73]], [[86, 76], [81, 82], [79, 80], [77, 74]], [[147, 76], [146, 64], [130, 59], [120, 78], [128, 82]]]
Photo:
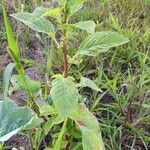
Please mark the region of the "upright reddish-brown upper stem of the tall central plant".
[[[64, 13], [64, 24], [68, 24], [68, 17], [67, 14]], [[67, 60], [67, 30], [63, 29], [63, 47], [62, 47], [62, 52], [63, 52], [63, 59], [64, 59], [64, 77], [66, 78], [68, 76], [68, 60]]]

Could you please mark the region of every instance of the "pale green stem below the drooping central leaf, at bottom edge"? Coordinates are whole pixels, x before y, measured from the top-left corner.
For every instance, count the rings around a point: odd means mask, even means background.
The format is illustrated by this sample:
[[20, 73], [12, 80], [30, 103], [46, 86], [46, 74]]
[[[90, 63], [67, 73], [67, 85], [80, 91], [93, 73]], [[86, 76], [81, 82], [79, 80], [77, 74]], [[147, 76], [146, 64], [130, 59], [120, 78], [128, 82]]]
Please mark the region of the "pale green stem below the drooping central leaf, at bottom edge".
[[62, 141], [62, 138], [63, 138], [63, 135], [65, 133], [65, 130], [66, 130], [66, 126], [67, 126], [67, 119], [65, 119], [64, 123], [63, 123], [63, 126], [61, 128], [61, 131], [59, 133], [59, 136], [58, 136], [58, 139], [56, 141], [56, 144], [54, 146], [54, 150], [60, 150], [60, 145], [61, 145], [61, 141]]

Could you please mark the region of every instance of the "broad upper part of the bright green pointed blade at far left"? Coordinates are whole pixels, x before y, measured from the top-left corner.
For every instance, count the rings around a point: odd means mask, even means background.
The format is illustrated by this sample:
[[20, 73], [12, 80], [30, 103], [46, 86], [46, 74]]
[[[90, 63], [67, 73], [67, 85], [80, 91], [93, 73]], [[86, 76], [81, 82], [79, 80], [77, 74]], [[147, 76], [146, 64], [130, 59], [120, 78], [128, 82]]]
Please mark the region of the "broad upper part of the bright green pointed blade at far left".
[[19, 53], [18, 45], [15, 41], [13, 32], [11, 30], [3, 1], [2, 1], [2, 8], [3, 8], [3, 17], [4, 17], [4, 24], [5, 24], [5, 30], [6, 30], [6, 35], [7, 35], [7, 41], [8, 41], [8, 46], [9, 46], [8, 52], [11, 55], [11, 57], [13, 58], [13, 60], [17, 64], [20, 64], [21, 61], [20, 61], [20, 53]]

